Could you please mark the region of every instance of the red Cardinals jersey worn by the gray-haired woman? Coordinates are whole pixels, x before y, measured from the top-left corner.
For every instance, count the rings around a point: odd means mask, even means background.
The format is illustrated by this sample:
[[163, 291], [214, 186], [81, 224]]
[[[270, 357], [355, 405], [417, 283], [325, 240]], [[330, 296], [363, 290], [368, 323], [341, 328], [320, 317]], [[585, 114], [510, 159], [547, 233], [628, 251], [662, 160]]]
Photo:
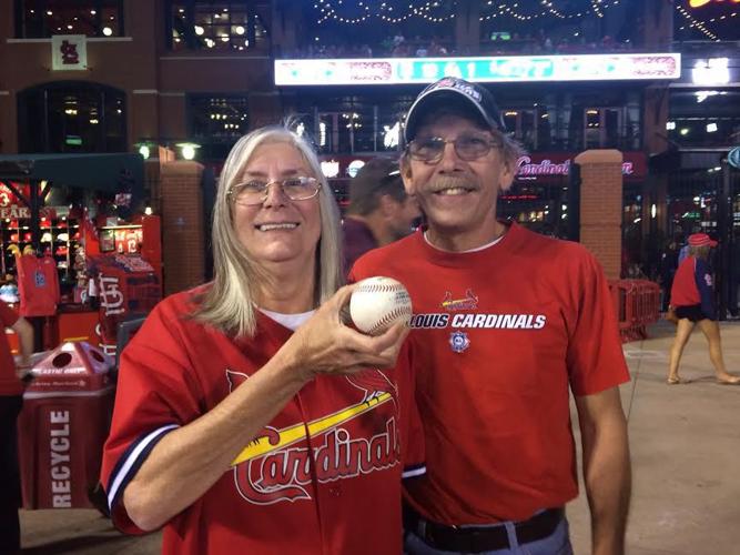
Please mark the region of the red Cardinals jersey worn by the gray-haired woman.
[[[101, 482], [114, 524], [141, 533], [121, 503], [166, 433], [212, 410], [257, 372], [291, 331], [260, 313], [256, 335], [232, 340], [186, 315], [192, 292], [162, 301], [124, 350]], [[393, 371], [318, 376], [164, 527], [163, 553], [401, 553], [401, 481], [422, 472], [407, 377]], [[418, 434], [419, 436], [422, 434]]]

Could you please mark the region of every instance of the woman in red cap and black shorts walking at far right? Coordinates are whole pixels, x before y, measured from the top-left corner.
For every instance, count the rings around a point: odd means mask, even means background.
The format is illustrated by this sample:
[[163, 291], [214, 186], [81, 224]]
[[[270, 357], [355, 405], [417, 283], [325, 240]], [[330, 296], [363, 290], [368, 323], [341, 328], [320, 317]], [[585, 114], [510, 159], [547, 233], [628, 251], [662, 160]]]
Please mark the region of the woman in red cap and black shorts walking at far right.
[[709, 343], [709, 359], [714, 366], [717, 383], [740, 385], [740, 376], [730, 374], [724, 366], [722, 340], [714, 309], [714, 286], [708, 259], [710, 250], [717, 246], [717, 241], [706, 233], [693, 233], [689, 235], [688, 246], [688, 256], [676, 271], [670, 294], [670, 304], [679, 320], [670, 350], [666, 382], [668, 385], [683, 383], [678, 373], [681, 355], [691, 332], [698, 325]]

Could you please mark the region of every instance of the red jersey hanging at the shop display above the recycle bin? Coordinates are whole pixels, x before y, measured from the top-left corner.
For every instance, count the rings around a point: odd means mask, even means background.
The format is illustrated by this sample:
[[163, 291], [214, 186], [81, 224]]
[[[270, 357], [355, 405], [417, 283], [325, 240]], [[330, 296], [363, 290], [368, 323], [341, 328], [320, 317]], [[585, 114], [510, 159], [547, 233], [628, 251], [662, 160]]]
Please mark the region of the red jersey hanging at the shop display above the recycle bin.
[[59, 302], [59, 275], [51, 256], [24, 254], [18, 259], [21, 316], [52, 316]]

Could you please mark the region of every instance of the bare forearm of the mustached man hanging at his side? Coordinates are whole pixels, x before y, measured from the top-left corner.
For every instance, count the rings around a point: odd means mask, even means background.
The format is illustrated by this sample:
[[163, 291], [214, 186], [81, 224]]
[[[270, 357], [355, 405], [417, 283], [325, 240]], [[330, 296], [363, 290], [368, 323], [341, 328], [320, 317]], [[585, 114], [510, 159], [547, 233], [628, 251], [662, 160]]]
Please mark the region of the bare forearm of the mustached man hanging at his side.
[[576, 397], [594, 555], [625, 553], [631, 492], [627, 421], [619, 387]]

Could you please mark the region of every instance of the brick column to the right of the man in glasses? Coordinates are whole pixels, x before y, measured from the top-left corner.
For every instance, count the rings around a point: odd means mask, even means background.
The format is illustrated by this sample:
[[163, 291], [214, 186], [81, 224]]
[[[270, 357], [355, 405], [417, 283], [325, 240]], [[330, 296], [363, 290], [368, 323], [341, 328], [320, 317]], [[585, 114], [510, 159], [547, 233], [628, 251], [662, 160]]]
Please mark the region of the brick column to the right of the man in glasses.
[[618, 150], [587, 150], [580, 165], [580, 242], [604, 266], [608, 279], [621, 271], [622, 154]]

